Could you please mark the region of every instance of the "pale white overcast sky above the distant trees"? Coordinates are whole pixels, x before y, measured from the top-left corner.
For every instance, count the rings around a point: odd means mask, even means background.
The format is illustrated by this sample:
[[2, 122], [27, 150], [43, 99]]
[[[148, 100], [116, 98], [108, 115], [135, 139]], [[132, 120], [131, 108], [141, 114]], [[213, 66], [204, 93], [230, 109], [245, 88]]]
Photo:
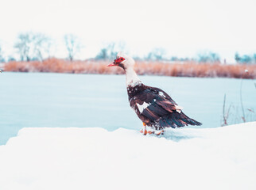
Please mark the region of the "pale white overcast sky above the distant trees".
[[219, 53], [233, 62], [235, 52], [256, 53], [255, 0], [2, 0], [0, 44], [6, 54], [21, 32], [42, 32], [56, 40], [73, 33], [84, 45], [80, 58], [94, 57], [107, 42], [125, 42], [130, 55], [163, 47], [167, 55], [195, 57]]

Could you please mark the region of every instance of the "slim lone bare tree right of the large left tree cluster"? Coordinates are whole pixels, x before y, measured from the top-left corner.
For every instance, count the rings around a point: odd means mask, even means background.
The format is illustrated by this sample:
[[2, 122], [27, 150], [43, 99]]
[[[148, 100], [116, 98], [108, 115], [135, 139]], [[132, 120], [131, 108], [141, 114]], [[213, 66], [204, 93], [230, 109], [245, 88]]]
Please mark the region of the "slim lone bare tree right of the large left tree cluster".
[[82, 45], [77, 36], [73, 34], [66, 34], [64, 36], [64, 42], [68, 51], [68, 59], [72, 61], [76, 54], [80, 52]]

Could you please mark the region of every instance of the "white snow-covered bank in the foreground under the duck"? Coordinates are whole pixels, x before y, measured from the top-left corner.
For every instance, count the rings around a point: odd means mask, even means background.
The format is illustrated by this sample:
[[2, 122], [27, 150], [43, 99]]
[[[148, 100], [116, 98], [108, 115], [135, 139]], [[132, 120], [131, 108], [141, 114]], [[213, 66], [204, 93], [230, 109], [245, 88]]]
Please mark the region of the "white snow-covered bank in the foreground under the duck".
[[0, 189], [256, 189], [256, 122], [167, 131], [23, 128], [0, 146]]

